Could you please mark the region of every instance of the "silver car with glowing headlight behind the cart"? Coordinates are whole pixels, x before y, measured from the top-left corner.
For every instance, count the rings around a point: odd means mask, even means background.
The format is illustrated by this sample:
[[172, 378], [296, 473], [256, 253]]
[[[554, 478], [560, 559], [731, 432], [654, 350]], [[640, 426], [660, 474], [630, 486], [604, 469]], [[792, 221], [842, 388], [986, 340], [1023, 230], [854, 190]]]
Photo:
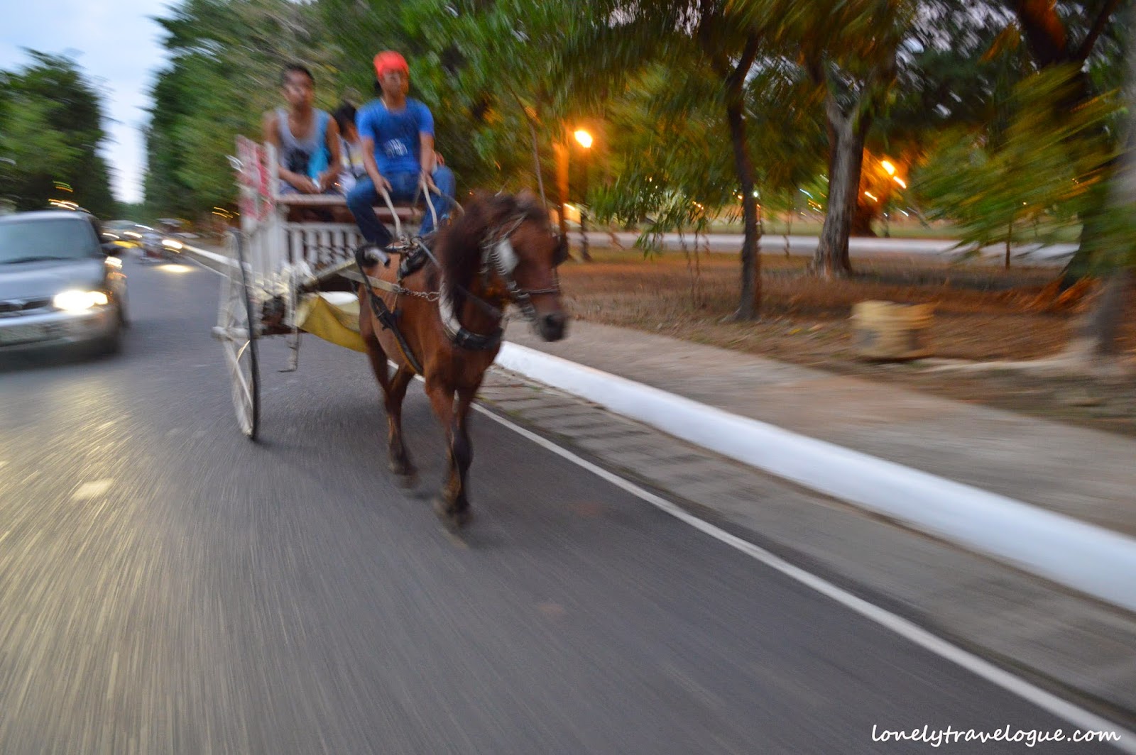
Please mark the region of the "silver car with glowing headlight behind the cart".
[[68, 344], [117, 351], [126, 325], [119, 250], [84, 212], [0, 217], [0, 360]]

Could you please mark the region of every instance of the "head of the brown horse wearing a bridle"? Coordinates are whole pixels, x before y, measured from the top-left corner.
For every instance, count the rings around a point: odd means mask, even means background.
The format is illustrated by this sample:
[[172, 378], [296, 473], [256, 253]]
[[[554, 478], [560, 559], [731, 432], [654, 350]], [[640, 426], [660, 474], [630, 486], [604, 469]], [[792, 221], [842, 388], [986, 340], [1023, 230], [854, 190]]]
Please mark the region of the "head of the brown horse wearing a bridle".
[[479, 196], [462, 220], [483, 228], [478, 236], [487, 287], [520, 308], [542, 338], [563, 338], [568, 317], [560, 303], [557, 267], [567, 259], [568, 244], [553, 233], [540, 201], [527, 193]]

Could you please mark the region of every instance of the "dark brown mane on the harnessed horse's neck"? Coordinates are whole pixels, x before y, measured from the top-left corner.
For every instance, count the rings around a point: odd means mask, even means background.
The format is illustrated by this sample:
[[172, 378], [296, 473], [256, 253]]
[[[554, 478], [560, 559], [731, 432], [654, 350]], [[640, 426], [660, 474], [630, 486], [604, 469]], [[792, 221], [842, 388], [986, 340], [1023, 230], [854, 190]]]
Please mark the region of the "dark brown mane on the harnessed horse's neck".
[[481, 192], [466, 204], [465, 213], [442, 232], [435, 252], [442, 267], [442, 295], [456, 312], [461, 311], [466, 292], [481, 268], [486, 236], [518, 218], [549, 223], [548, 210], [535, 196]]

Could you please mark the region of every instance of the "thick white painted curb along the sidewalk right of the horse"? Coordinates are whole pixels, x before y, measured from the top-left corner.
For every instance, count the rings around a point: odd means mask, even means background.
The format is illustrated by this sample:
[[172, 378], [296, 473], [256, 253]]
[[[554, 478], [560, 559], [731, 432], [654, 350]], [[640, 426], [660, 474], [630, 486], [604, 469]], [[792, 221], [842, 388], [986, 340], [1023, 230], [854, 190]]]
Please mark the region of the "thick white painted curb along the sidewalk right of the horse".
[[1136, 611], [1136, 539], [1130, 537], [526, 346], [504, 343], [496, 362], [675, 437]]

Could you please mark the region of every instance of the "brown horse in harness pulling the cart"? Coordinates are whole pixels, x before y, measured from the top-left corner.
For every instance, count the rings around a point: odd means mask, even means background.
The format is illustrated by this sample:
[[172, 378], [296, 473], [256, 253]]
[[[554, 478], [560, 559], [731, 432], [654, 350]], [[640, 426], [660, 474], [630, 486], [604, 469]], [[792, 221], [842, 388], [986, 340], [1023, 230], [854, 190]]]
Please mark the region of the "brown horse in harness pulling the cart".
[[[466, 473], [473, 461], [467, 431], [469, 405], [485, 370], [501, 347], [503, 312], [515, 303], [545, 341], [565, 335], [557, 266], [567, 257], [544, 208], [529, 195], [476, 198], [457, 221], [441, 232], [428, 262], [402, 280], [404, 293], [374, 291], [398, 311], [398, 328], [414, 355], [407, 358], [394, 334], [384, 329], [359, 286], [359, 332], [375, 377], [383, 387], [389, 425], [391, 471], [412, 485], [415, 467], [402, 443], [402, 400], [421, 367], [434, 413], [445, 429], [449, 471], [434, 510], [450, 528], [470, 518]], [[368, 276], [391, 283], [390, 267], [374, 265]], [[410, 293], [412, 292], [412, 293]], [[398, 367], [387, 372], [387, 359]]]

